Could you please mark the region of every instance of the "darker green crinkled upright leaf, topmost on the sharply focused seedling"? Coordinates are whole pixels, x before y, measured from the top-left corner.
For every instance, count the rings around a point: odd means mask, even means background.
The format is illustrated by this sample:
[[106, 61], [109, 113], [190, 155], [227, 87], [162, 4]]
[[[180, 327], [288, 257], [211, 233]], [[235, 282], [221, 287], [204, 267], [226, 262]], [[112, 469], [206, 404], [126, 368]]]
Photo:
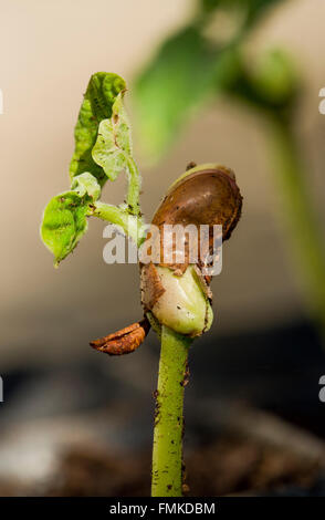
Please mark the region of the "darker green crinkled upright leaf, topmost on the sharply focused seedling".
[[125, 81], [117, 74], [97, 72], [92, 75], [74, 131], [75, 150], [70, 165], [71, 178], [90, 171], [102, 187], [107, 180], [103, 169], [93, 160], [92, 148], [101, 121], [112, 116], [116, 96], [125, 89]]

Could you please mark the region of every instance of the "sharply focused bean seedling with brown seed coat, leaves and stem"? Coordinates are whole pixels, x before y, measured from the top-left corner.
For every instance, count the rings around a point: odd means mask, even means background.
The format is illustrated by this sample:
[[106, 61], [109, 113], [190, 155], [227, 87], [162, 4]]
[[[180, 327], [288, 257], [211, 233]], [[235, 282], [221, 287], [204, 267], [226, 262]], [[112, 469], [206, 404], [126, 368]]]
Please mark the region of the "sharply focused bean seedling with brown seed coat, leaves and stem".
[[[55, 266], [74, 250], [87, 229], [88, 217], [118, 226], [138, 248], [150, 236], [140, 212], [140, 175], [123, 104], [125, 91], [124, 80], [112, 73], [98, 72], [88, 83], [75, 126], [70, 190], [55, 196], [43, 215], [41, 237], [54, 254]], [[126, 201], [118, 206], [101, 201], [105, 183], [114, 181], [122, 171], [127, 175]], [[167, 191], [153, 225], [161, 230], [161, 236], [165, 225], [208, 225], [209, 230], [219, 225], [226, 240], [240, 218], [241, 205], [232, 170], [214, 164], [191, 164]], [[214, 251], [210, 231], [208, 238], [205, 254], [196, 262], [185, 247], [182, 262], [167, 263], [164, 248], [175, 253], [175, 242], [166, 246], [159, 238], [156, 249], [162, 252], [162, 260], [140, 261], [144, 319], [91, 342], [99, 352], [122, 355], [135, 351], [150, 327], [160, 337], [153, 450], [155, 497], [182, 495], [182, 408], [188, 351], [193, 339], [212, 323], [211, 277], [205, 271]]]

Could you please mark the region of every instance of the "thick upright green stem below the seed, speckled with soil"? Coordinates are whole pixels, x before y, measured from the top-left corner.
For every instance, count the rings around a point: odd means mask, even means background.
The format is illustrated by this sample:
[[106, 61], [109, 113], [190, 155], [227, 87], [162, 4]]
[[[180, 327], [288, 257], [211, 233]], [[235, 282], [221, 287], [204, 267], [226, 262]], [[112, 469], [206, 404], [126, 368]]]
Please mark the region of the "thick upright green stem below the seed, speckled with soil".
[[151, 496], [181, 497], [184, 387], [191, 340], [161, 329]]

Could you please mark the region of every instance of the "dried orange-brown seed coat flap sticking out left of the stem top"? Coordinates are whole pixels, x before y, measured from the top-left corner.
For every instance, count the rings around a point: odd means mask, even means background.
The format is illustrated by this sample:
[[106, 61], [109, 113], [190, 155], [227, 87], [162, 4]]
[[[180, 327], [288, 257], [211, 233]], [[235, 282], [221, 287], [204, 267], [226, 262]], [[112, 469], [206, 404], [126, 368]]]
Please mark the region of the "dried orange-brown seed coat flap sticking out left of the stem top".
[[129, 354], [144, 342], [149, 330], [150, 324], [148, 320], [144, 318], [140, 322], [133, 323], [99, 340], [92, 341], [90, 344], [96, 351], [105, 352], [109, 355]]

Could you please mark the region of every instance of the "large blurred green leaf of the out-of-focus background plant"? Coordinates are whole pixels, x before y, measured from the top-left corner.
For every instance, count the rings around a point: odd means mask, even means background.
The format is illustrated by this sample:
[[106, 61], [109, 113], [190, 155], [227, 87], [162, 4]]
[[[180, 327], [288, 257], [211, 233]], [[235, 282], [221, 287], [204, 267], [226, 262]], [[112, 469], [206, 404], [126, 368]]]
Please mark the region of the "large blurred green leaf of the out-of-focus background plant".
[[233, 51], [223, 54], [195, 27], [167, 40], [135, 85], [140, 142], [150, 159], [172, 144], [188, 117], [235, 73]]

